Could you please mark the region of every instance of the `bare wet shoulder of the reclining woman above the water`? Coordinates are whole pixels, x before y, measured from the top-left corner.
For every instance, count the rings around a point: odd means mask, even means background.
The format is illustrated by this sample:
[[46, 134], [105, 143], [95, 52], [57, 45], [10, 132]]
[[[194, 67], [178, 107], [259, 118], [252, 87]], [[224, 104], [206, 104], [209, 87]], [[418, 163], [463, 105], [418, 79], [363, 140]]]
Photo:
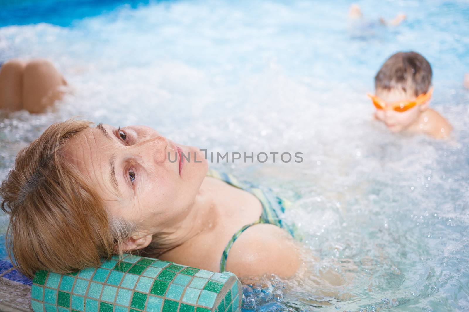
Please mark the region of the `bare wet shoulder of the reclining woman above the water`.
[[278, 226], [250, 226], [236, 239], [226, 268], [237, 276], [294, 276], [300, 266], [299, 246]]

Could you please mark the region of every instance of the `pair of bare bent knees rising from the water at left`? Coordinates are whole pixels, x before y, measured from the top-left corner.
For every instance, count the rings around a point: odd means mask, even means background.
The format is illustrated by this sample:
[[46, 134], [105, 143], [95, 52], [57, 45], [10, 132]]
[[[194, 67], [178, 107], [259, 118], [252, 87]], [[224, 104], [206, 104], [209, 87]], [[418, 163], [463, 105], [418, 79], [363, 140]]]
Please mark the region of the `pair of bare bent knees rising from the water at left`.
[[61, 100], [67, 82], [45, 59], [11, 59], [0, 67], [0, 109], [42, 113]]

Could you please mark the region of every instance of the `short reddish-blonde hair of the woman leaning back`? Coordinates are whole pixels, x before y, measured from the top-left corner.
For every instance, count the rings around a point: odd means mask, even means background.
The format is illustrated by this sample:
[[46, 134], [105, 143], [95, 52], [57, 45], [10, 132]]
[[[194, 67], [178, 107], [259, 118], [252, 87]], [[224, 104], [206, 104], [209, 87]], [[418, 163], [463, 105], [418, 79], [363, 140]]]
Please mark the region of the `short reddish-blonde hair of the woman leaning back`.
[[9, 214], [8, 256], [24, 275], [70, 273], [99, 266], [135, 230], [109, 216], [86, 177], [65, 157], [70, 138], [91, 122], [54, 123], [23, 148], [1, 183], [0, 207]]

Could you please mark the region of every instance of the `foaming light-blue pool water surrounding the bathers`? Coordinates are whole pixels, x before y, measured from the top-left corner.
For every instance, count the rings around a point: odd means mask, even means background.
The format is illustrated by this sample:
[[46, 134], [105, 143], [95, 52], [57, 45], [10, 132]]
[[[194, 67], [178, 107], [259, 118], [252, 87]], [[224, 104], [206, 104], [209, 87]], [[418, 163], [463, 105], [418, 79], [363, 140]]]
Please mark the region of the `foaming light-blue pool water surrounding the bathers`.
[[[51, 3], [8, 6], [0, 62], [48, 58], [73, 93], [41, 116], [0, 113], [2, 179], [21, 147], [76, 115], [214, 152], [302, 152], [212, 164], [294, 201], [285, 218], [322, 259], [301, 278], [245, 285], [244, 311], [469, 311], [467, 1], [363, 0], [358, 24], [342, 0]], [[399, 12], [399, 27], [379, 25]], [[432, 65], [448, 140], [372, 121], [374, 74], [409, 50]], [[321, 270], [345, 285], [319, 283]]]

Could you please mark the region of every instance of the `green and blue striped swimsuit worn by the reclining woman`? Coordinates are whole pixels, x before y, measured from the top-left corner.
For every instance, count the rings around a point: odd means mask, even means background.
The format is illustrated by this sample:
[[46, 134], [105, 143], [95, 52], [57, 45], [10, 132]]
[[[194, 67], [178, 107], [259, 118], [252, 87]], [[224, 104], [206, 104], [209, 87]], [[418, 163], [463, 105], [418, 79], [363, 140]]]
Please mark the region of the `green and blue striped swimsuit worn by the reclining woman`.
[[277, 225], [280, 228], [285, 229], [288, 233], [290, 233], [292, 237], [298, 237], [296, 226], [286, 224], [280, 219], [280, 216], [283, 214], [285, 209], [290, 206], [289, 201], [275, 196], [270, 189], [268, 191], [263, 191], [254, 187], [249, 182], [238, 181], [238, 179], [236, 179], [231, 174], [220, 173], [214, 169], [208, 169], [207, 176], [217, 178], [219, 180], [227, 182], [228, 184], [238, 189], [250, 192], [252, 195], [256, 196], [262, 204], [262, 214], [260, 218], [250, 224], [244, 225], [241, 229], [234, 233], [234, 235], [228, 241], [228, 244], [225, 247], [225, 250], [223, 250], [223, 254], [221, 256], [220, 272], [225, 271], [228, 253], [231, 247], [233, 246], [234, 241], [241, 235], [242, 232], [246, 231], [246, 229], [248, 229], [252, 225], [260, 223]]

